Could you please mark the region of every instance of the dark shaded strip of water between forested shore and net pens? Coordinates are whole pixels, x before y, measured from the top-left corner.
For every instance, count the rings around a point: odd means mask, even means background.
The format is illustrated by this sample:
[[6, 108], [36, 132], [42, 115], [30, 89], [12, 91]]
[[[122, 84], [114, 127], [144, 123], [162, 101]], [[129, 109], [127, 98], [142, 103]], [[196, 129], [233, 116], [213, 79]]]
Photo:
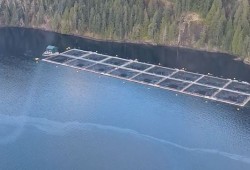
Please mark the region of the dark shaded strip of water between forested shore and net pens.
[[118, 55], [122, 58], [138, 59], [152, 64], [160, 63], [171, 68], [185, 68], [188, 71], [202, 74], [210, 73], [218, 77], [236, 78], [250, 83], [250, 65], [235, 61], [234, 56], [228, 54], [174, 47], [99, 42], [21, 28], [1, 28], [0, 37], [0, 53], [8, 55], [15, 56], [28, 52], [32, 54], [32, 57], [40, 56], [46, 46], [52, 44], [59, 47], [61, 51], [65, 51], [67, 47], [75, 47], [82, 50], [98, 51], [102, 54]]

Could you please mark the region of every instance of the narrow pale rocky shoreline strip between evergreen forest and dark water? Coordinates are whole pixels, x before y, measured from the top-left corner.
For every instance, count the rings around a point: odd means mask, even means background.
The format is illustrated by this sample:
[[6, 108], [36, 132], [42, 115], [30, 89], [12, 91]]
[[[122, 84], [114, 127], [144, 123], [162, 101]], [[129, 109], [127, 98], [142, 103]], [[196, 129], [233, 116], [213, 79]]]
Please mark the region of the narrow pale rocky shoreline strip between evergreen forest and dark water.
[[192, 48], [192, 47], [186, 47], [186, 46], [176, 46], [176, 45], [164, 45], [164, 44], [157, 44], [157, 43], [153, 43], [153, 42], [143, 42], [143, 41], [130, 41], [130, 40], [112, 40], [112, 39], [101, 39], [101, 38], [95, 38], [95, 37], [91, 37], [91, 36], [87, 36], [87, 35], [79, 35], [79, 34], [75, 34], [75, 33], [70, 33], [70, 34], [64, 34], [64, 33], [60, 33], [60, 32], [56, 32], [50, 29], [46, 29], [44, 27], [27, 27], [27, 26], [1, 26], [0, 25], [0, 29], [1, 28], [24, 28], [24, 29], [34, 29], [34, 30], [40, 30], [40, 31], [46, 31], [46, 32], [51, 32], [51, 33], [57, 33], [57, 34], [62, 34], [65, 36], [74, 36], [74, 37], [78, 37], [78, 38], [83, 38], [86, 40], [92, 40], [92, 41], [97, 41], [97, 42], [110, 42], [110, 43], [126, 43], [126, 44], [135, 44], [135, 45], [146, 45], [146, 46], [153, 46], [153, 47], [168, 47], [168, 48], [182, 48], [182, 49], [187, 49], [187, 50], [195, 50], [195, 51], [199, 51], [199, 52], [207, 52], [207, 53], [219, 53], [219, 54], [227, 54], [228, 56], [232, 57], [235, 61], [240, 61], [246, 65], [250, 65], [250, 59], [242, 59], [239, 56], [236, 56], [234, 54], [230, 54], [227, 52], [223, 52], [223, 51], [209, 51], [206, 49], [198, 49], [198, 48]]

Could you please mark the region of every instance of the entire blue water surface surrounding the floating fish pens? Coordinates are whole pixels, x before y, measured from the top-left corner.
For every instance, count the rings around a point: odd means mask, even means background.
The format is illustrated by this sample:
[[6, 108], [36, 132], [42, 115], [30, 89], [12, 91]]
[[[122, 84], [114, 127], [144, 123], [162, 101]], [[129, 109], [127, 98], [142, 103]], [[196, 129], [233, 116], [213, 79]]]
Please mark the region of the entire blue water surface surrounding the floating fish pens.
[[249, 66], [224, 54], [184, 49], [178, 58], [173, 48], [30, 29], [0, 29], [0, 37], [0, 169], [250, 169], [249, 105], [238, 111], [33, 58], [47, 44], [79, 46], [245, 81]]

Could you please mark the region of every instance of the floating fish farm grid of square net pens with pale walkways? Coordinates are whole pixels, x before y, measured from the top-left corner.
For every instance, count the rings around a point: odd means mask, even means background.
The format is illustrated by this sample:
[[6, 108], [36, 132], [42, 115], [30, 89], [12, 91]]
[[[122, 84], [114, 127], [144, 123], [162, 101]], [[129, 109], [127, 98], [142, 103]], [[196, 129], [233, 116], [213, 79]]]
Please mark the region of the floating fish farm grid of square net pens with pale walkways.
[[179, 69], [72, 49], [43, 61], [69, 66], [192, 96], [245, 106], [250, 84]]

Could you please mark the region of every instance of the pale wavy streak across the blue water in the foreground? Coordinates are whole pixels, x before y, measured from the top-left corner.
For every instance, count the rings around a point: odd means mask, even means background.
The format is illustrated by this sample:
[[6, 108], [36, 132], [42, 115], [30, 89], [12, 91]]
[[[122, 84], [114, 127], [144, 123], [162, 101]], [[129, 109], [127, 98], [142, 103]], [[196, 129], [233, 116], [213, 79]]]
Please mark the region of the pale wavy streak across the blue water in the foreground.
[[8, 144], [10, 142], [14, 142], [19, 135], [22, 133], [22, 129], [27, 126], [35, 127], [41, 131], [46, 132], [51, 135], [64, 135], [72, 130], [109, 130], [113, 132], [125, 133], [134, 135], [136, 137], [140, 137], [144, 140], [149, 140], [152, 142], [158, 142], [165, 145], [170, 145], [172, 147], [189, 151], [189, 152], [200, 152], [200, 153], [208, 153], [208, 154], [217, 154], [223, 157], [230, 158], [232, 160], [241, 161], [250, 164], [250, 158], [242, 155], [227, 153], [223, 151], [219, 151], [216, 149], [204, 149], [204, 148], [191, 148], [183, 145], [179, 145], [174, 142], [170, 142], [164, 139], [159, 139], [153, 136], [149, 136], [146, 134], [139, 133], [135, 130], [131, 129], [123, 129], [115, 126], [107, 126], [100, 125], [94, 123], [80, 123], [80, 122], [56, 122], [52, 120], [48, 120], [45, 118], [32, 118], [28, 116], [6, 116], [0, 115], [0, 125], [11, 125], [16, 128], [14, 133], [10, 134], [7, 137], [0, 138], [0, 144]]

